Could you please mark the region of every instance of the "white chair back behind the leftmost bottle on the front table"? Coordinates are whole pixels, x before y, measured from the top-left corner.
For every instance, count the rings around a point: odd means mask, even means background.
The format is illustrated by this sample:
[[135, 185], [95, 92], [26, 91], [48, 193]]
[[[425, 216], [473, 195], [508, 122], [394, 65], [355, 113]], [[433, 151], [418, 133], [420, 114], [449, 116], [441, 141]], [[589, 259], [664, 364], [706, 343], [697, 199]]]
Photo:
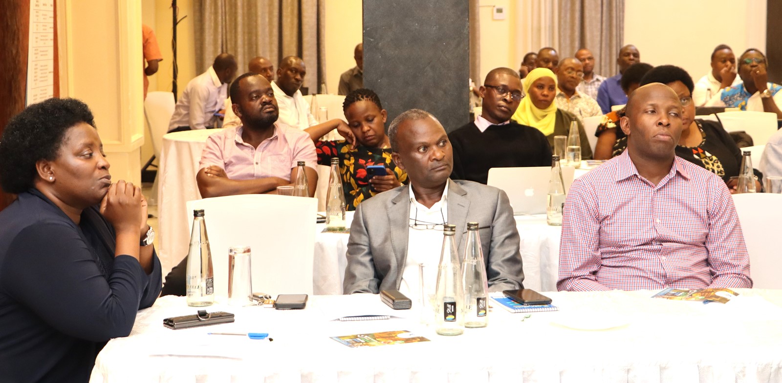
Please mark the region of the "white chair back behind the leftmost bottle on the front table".
[[250, 246], [253, 291], [312, 294], [317, 200], [267, 194], [204, 198], [187, 203], [204, 209], [214, 270], [214, 293], [228, 296], [228, 249]]

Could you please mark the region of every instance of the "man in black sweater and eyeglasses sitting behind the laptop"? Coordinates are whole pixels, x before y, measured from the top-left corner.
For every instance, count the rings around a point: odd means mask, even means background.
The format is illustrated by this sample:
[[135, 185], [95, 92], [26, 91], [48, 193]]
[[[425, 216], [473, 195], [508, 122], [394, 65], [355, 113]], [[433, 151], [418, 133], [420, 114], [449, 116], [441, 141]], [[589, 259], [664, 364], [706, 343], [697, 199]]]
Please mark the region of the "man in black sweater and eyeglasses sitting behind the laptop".
[[451, 179], [486, 183], [490, 168], [551, 165], [551, 146], [540, 130], [511, 121], [522, 99], [521, 80], [510, 68], [492, 69], [479, 88], [481, 115], [448, 135], [454, 147]]

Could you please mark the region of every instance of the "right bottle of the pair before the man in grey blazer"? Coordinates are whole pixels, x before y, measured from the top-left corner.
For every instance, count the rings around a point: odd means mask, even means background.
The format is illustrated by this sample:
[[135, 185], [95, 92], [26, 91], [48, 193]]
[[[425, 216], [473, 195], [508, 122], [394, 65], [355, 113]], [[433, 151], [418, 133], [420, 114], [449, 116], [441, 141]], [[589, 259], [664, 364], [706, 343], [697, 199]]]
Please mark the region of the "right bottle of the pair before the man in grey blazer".
[[478, 222], [467, 223], [467, 246], [461, 272], [465, 288], [465, 327], [486, 327], [489, 324], [489, 283], [486, 279], [486, 264], [483, 263]]

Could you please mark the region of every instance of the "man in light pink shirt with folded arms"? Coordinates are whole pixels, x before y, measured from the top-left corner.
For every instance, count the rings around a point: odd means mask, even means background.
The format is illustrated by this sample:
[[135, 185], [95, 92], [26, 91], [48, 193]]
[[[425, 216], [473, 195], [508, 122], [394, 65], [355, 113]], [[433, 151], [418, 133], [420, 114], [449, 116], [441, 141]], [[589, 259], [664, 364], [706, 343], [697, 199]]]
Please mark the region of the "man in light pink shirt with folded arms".
[[203, 197], [275, 193], [296, 179], [297, 161], [305, 161], [310, 197], [317, 186], [317, 155], [310, 135], [276, 122], [277, 101], [264, 76], [245, 73], [231, 83], [233, 112], [242, 125], [206, 140], [195, 177]]

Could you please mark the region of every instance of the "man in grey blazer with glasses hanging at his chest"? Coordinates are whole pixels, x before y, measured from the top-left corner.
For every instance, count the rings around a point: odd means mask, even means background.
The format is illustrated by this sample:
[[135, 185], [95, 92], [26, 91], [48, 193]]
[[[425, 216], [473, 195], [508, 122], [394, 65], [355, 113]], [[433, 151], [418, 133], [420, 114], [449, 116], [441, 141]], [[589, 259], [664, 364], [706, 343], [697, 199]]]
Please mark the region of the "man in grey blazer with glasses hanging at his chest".
[[[460, 257], [467, 222], [478, 222], [490, 291], [521, 289], [524, 280], [513, 210], [504, 191], [449, 178], [453, 152], [447, 133], [428, 112], [411, 109], [389, 126], [393, 160], [410, 185], [379, 193], [356, 209], [350, 227], [344, 292], [379, 293], [399, 289], [417, 296], [418, 264], [434, 293], [443, 243], [443, 224], [456, 225]], [[439, 230], [438, 230], [439, 229]]]

